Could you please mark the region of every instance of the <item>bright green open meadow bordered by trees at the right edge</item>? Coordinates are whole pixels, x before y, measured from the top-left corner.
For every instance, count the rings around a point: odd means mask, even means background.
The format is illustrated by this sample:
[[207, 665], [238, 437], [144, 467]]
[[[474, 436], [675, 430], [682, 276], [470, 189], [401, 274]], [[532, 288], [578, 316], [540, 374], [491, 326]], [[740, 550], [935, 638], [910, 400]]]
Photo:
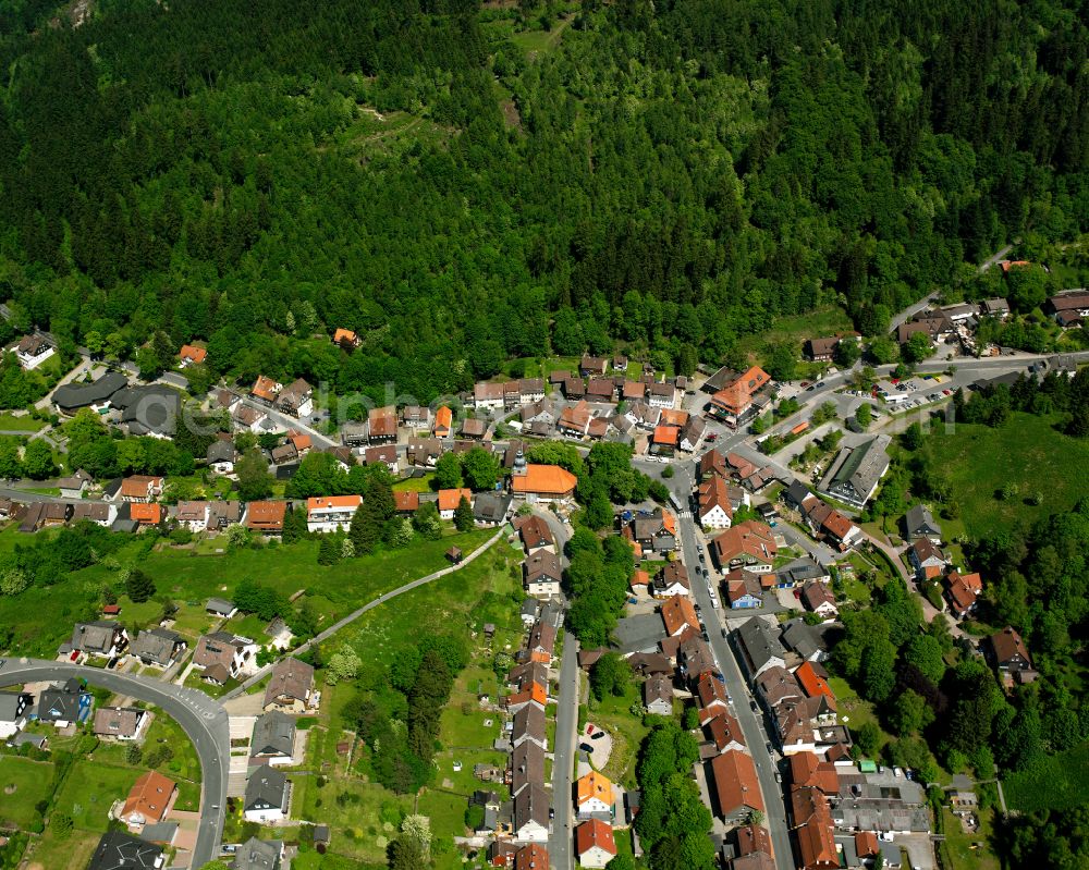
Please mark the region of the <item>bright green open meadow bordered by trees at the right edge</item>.
[[[1069, 511], [1089, 491], [1089, 443], [1055, 431], [1059, 419], [1011, 414], [996, 429], [958, 422], [952, 433], [935, 427], [927, 438], [923, 454], [953, 483], [969, 536]], [[1062, 474], [1044, 479], [1040, 469], [1048, 468]], [[1016, 483], [1020, 492], [1003, 500], [999, 492], [1007, 483]], [[1035, 494], [1040, 504], [1028, 504]]]

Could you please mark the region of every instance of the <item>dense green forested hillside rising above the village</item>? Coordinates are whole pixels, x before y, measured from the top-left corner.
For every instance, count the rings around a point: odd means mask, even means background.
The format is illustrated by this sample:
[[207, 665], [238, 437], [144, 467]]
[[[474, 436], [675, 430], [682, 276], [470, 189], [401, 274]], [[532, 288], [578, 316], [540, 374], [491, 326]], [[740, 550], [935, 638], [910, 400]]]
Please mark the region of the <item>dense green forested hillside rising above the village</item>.
[[687, 369], [1089, 222], [1080, 0], [3, 7], [0, 296], [108, 355], [421, 399], [617, 340]]

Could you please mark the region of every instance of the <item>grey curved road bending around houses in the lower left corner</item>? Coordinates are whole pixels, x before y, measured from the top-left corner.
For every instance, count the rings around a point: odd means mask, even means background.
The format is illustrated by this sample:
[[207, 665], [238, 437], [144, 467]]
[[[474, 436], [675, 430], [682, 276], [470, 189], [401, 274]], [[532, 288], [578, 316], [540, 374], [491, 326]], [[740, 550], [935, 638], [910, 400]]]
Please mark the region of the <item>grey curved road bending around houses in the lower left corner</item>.
[[0, 686], [53, 682], [73, 676], [154, 703], [182, 726], [200, 759], [203, 781], [200, 824], [191, 867], [203, 867], [216, 858], [223, 835], [227, 774], [231, 763], [231, 734], [223, 708], [203, 691], [148, 677], [40, 659], [0, 659]]

